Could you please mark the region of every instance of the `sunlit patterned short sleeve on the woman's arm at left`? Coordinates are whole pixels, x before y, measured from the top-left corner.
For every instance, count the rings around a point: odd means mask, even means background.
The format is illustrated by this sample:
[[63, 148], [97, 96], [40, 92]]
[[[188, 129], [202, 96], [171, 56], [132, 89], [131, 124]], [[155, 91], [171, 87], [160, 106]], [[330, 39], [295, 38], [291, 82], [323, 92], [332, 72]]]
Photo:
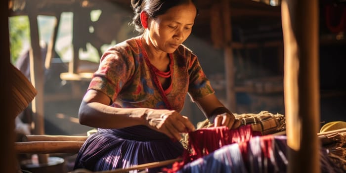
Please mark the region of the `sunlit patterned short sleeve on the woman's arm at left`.
[[101, 91], [114, 102], [130, 79], [133, 64], [131, 53], [115, 47], [108, 49], [102, 55], [98, 70], [93, 74], [88, 89]]

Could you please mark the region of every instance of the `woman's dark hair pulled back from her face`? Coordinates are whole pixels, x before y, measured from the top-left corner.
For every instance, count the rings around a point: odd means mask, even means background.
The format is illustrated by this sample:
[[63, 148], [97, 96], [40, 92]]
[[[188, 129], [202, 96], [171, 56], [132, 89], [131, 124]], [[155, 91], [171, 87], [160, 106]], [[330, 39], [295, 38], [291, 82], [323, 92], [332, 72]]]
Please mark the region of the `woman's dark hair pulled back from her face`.
[[153, 19], [161, 14], [165, 14], [167, 10], [174, 6], [189, 2], [194, 3], [194, 0], [131, 0], [131, 6], [134, 12], [131, 25], [134, 26], [136, 31], [143, 33], [144, 28], [140, 22], [140, 13], [142, 11], [146, 11], [148, 17]]

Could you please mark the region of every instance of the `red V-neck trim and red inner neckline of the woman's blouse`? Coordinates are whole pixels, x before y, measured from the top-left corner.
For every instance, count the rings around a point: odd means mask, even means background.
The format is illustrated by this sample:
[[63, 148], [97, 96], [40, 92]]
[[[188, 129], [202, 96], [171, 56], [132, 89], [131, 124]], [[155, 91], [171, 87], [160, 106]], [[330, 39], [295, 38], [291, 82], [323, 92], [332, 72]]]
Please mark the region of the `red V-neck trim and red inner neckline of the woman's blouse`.
[[[154, 80], [154, 83], [156, 85], [156, 87], [158, 87], [159, 91], [160, 91], [160, 94], [162, 96], [162, 99], [163, 101], [165, 102], [166, 106], [168, 109], [171, 109], [172, 110], [172, 107], [171, 107], [171, 104], [170, 102], [168, 101], [167, 99], [167, 94], [169, 94], [172, 90], [172, 81], [173, 81], [173, 65], [174, 65], [174, 62], [173, 62], [173, 54], [170, 53], [169, 56], [170, 56], [170, 70], [168, 72], [162, 72], [160, 71], [159, 69], [157, 69], [156, 67], [154, 67], [151, 63], [150, 63], [150, 60], [148, 58], [148, 55], [145, 51], [145, 49], [143, 48], [142, 46], [142, 42], [141, 40], [137, 40], [137, 44], [138, 46], [141, 48], [142, 50], [142, 53], [143, 53], [143, 57], [144, 57], [144, 60], [145, 60], [145, 63], [147, 64], [147, 66], [149, 67], [149, 70], [150, 70], [150, 74]], [[162, 77], [162, 78], [171, 78], [171, 81], [170, 81], [170, 86], [166, 89], [164, 89], [160, 83], [160, 80], [159, 80], [159, 77]]]

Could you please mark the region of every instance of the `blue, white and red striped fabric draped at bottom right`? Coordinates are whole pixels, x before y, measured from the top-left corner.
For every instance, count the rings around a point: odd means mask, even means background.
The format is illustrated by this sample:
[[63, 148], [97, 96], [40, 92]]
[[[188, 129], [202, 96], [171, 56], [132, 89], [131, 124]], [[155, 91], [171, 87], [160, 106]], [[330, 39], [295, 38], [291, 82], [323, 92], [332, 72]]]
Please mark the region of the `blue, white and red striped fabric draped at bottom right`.
[[[286, 136], [254, 136], [249, 141], [229, 144], [185, 164], [176, 173], [286, 173]], [[321, 173], [345, 173], [321, 147]]]

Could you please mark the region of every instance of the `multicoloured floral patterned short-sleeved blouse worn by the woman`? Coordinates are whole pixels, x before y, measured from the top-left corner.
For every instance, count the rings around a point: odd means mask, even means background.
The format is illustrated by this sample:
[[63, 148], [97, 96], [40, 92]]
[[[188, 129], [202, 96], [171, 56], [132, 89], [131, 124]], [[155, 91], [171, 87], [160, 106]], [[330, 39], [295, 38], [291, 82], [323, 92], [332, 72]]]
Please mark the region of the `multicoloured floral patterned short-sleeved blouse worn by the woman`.
[[214, 93], [197, 56], [180, 45], [170, 54], [172, 86], [169, 92], [164, 92], [168, 106], [160, 93], [160, 86], [155, 84], [157, 77], [150, 72], [152, 67], [145, 61], [148, 59], [146, 56], [139, 37], [110, 47], [102, 55], [88, 89], [106, 94], [114, 107], [172, 109], [177, 112], [182, 110], [187, 93], [192, 100]]

